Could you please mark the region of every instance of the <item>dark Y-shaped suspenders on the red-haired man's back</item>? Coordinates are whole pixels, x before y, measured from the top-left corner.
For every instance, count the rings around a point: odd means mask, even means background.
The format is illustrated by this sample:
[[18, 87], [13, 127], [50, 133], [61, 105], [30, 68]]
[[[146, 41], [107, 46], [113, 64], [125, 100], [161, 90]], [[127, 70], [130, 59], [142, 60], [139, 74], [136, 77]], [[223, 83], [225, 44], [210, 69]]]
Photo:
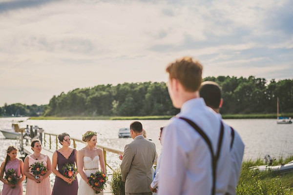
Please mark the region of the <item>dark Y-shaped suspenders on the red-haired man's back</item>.
[[212, 166], [212, 188], [211, 188], [211, 195], [215, 195], [215, 190], [216, 190], [216, 169], [217, 169], [217, 162], [220, 156], [220, 151], [221, 151], [221, 147], [222, 147], [222, 141], [223, 141], [223, 135], [224, 135], [224, 125], [221, 121], [221, 131], [220, 131], [220, 136], [218, 139], [218, 150], [217, 153], [214, 155], [213, 149], [212, 149], [212, 145], [211, 142], [209, 140], [209, 137], [207, 136], [207, 134], [205, 134], [205, 132], [199, 128], [193, 121], [189, 120], [188, 118], [184, 118], [184, 117], [179, 117], [180, 119], [185, 120], [186, 122], [188, 122], [188, 124], [194, 128], [194, 130], [196, 132], [198, 132], [198, 134], [203, 137], [203, 139], [206, 141], [206, 143], [208, 144], [209, 147], [209, 151], [210, 151], [210, 155], [211, 155], [211, 166]]

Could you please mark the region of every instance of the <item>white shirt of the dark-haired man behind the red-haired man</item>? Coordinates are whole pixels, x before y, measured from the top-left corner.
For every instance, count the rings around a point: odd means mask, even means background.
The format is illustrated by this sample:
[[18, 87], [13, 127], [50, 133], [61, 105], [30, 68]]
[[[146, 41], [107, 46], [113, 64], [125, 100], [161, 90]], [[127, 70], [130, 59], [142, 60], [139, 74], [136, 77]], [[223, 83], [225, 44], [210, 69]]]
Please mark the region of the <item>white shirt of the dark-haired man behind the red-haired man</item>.
[[[218, 114], [219, 117], [222, 118], [220, 114]], [[230, 126], [227, 125], [224, 122], [225, 128], [229, 129], [228, 134], [231, 136], [231, 129]], [[230, 137], [231, 139], [231, 137]], [[230, 150], [230, 156], [231, 156], [231, 175], [229, 179], [229, 185], [228, 185], [228, 193], [230, 195], [236, 195], [235, 189], [238, 184], [240, 172], [241, 172], [241, 166], [242, 166], [242, 159], [244, 155], [244, 143], [239, 136], [238, 132], [234, 129], [234, 141], [232, 145], [232, 149]]]

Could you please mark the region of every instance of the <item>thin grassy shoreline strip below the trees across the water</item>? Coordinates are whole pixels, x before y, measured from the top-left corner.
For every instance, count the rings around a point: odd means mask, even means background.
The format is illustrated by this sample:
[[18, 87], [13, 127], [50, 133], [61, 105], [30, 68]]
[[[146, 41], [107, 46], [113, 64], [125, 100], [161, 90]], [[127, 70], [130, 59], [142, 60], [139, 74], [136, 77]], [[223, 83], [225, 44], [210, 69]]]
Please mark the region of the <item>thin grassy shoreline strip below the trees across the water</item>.
[[[286, 117], [292, 117], [293, 113], [284, 114]], [[31, 120], [168, 120], [173, 116], [96, 116], [96, 117], [85, 117], [85, 116], [71, 116], [71, 117], [28, 117]], [[276, 119], [276, 114], [223, 114], [223, 119]]]

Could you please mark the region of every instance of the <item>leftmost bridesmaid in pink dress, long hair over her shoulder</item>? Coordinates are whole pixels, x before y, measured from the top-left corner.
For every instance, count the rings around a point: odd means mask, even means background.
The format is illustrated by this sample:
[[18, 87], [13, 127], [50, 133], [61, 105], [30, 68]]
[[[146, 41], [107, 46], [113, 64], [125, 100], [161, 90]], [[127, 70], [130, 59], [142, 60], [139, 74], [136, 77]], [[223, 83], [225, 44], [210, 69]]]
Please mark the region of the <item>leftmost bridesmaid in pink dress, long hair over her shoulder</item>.
[[[23, 175], [23, 162], [17, 158], [17, 149], [14, 146], [7, 148], [7, 155], [1, 164], [0, 180], [4, 183], [1, 195], [22, 195], [22, 181], [25, 179]], [[8, 169], [14, 169], [19, 178], [16, 185], [11, 185], [3, 178], [4, 172]], [[14, 187], [14, 188], [12, 188]]]

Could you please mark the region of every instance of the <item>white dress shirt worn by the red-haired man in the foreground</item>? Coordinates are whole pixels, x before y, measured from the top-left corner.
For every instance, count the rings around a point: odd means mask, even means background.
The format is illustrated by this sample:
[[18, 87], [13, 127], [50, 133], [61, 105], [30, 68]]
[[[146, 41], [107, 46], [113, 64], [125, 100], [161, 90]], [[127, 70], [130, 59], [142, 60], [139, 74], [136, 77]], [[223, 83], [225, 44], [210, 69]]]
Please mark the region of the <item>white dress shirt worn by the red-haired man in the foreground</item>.
[[[185, 102], [178, 117], [195, 122], [207, 134], [216, 153], [221, 118], [203, 98]], [[226, 128], [217, 163], [216, 195], [227, 192], [230, 178], [230, 137]], [[206, 141], [186, 121], [173, 117], [164, 128], [162, 143], [158, 195], [210, 195], [212, 166]]]

